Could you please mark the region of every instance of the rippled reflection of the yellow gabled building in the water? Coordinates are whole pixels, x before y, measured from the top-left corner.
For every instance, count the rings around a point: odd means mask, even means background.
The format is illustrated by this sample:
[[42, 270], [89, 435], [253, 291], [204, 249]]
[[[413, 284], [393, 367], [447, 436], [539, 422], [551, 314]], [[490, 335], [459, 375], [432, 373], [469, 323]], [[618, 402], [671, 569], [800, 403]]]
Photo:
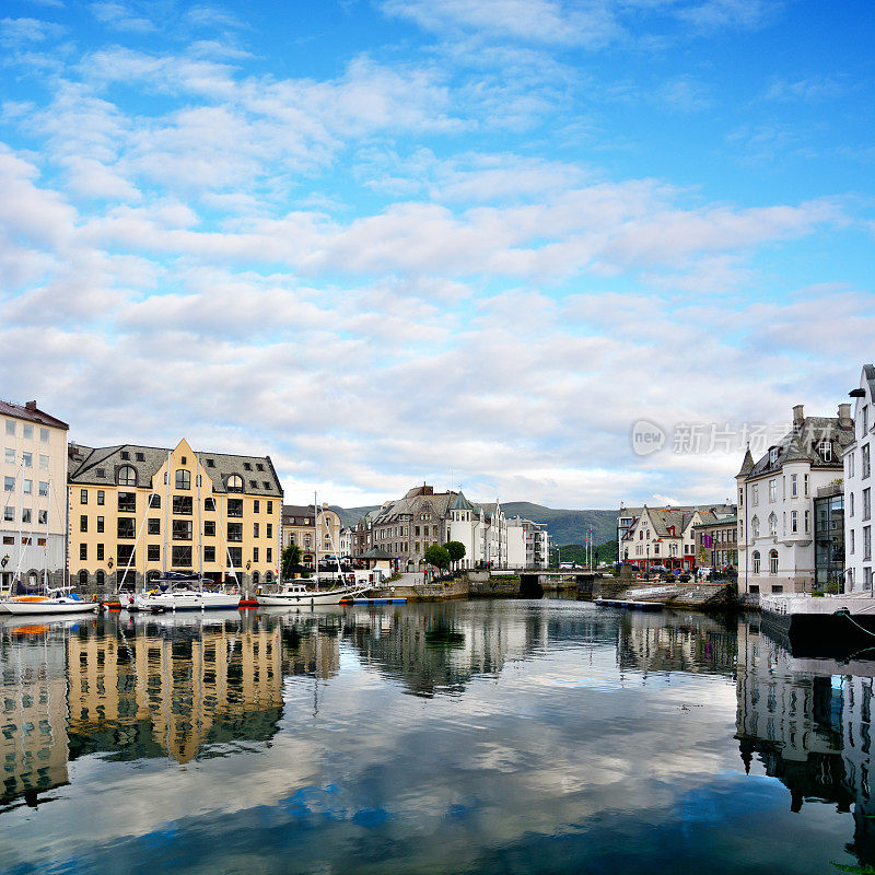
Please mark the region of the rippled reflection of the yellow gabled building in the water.
[[273, 735], [282, 711], [278, 628], [187, 622], [71, 635], [73, 756], [166, 750], [187, 762], [202, 745]]

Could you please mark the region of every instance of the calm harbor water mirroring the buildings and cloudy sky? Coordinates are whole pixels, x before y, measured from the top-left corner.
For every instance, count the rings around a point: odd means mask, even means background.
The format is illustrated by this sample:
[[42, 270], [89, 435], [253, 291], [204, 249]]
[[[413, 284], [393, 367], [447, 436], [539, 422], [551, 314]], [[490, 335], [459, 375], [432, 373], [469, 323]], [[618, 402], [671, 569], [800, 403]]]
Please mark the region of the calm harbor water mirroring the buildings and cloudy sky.
[[563, 599], [5, 622], [0, 872], [866, 871], [866, 655]]

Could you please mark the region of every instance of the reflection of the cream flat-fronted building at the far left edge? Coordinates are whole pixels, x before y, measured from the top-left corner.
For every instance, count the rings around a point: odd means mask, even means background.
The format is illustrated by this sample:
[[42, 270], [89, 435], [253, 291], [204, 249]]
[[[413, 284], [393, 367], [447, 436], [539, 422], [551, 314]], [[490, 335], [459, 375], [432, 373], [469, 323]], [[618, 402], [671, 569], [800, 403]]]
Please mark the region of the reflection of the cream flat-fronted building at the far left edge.
[[0, 806], [19, 796], [33, 805], [68, 781], [65, 634], [36, 625], [2, 630]]

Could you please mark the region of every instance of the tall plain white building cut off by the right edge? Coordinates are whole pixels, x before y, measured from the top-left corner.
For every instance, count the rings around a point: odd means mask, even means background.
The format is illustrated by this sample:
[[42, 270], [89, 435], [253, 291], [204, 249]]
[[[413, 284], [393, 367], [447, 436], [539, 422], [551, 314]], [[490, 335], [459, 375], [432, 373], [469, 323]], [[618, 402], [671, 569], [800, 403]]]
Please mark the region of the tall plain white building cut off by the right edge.
[[[845, 592], [872, 592], [872, 462], [875, 455], [875, 366], [860, 375], [854, 399], [853, 438], [844, 451]], [[845, 405], [842, 405], [845, 407]], [[849, 406], [848, 406], [849, 407]], [[850, 409], [849, 409], [850, 416]]]

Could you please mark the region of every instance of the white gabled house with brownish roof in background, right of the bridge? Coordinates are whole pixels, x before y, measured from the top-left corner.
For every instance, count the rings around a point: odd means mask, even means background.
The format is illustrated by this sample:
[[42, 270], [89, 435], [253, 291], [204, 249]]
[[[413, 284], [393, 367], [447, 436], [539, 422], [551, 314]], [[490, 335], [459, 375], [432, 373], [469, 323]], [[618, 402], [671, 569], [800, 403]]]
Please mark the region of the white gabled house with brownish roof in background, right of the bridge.
[[673, 571], [691, 571], [698, 561], [695, 529], [716, 524], [734, 513], [735, 508], [731, 504], [709, 508], [645, 505], [633, 517], [632, 524], [625, 527], [620, 541], [622, 561], [641, 570], [665, 567]]

